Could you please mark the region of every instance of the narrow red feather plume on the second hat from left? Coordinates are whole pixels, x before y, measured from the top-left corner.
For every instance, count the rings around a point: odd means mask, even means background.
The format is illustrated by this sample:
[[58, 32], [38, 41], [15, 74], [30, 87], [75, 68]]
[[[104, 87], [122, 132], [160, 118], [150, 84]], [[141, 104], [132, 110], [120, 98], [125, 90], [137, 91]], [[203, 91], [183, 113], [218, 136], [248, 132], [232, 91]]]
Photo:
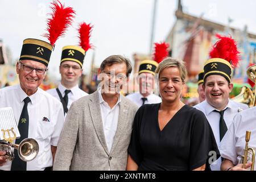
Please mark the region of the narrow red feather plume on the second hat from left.
[[93, 26], [90, 23], [86, 24], [85, 22], [82, 22], [79, 25], [79, 46], [82, 47], [85, 51], [88, 51], [88, 49], [93, 47], [93, 45], [90, 44], [90, 33], [92, 28]]

